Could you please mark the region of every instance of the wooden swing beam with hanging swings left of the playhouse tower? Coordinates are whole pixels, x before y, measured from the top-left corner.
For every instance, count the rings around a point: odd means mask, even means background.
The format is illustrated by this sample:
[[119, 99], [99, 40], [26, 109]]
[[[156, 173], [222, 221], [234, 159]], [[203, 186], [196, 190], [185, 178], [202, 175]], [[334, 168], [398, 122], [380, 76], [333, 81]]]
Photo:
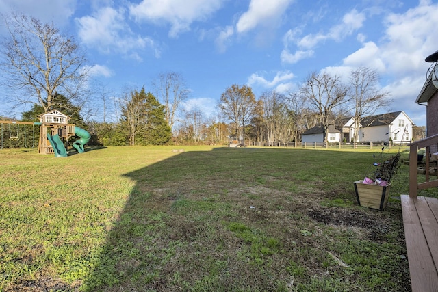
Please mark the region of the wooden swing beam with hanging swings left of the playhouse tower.
[[[0, 120], [1, 124], [1, 137], [0, 137], [0, 149], [3, 149], [3, 146], [5, 146], [6, 142], [5, 139], [7, 139], [7, 133], [9, 133], [9, 141], [10, 143], [16, 144], [21, 139], [24, 140], [24, 144], [21, 144], [21, 146], [24, 146], [25, 148], [34, 148], [35, 147], [35, 126], [40, 125], [40, 122], [17, 122], [17, 121], [10, 121], [10, 120]], [[7, 126], [6, 126], [7, 125]], [[20, 126], [23, 125], [22, 133], [20, 134]], [[31, 132], [31, 146], [28, 145], [27, 140], [29, 140], [28, 133], [29, 126], [32, 126], [32, 132]], [[16, 127], [15, 127], [16, 126]], [[26, 126], [28, 128], [26, 129]]]

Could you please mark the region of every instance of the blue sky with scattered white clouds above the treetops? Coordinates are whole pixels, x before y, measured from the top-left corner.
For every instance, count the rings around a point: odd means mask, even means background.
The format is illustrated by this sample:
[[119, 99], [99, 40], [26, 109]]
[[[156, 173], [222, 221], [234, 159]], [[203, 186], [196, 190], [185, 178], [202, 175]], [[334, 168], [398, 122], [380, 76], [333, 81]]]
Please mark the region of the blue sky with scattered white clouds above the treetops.
[[0, 0], [1, 13], [11, 10], [75, 36], [93, 77], [115, 96], [152, 91], [157, 75], [178, 72], [190, 89], [185, 107], [214, 116], [233, 84], [258, 97], [298, 90], [311, 72], [347, 76], [368, 66], [394, 100], [382, 112], [403, 110], [425, 124], [415, 99], [430, 66], [424, 58], [438, 50], [437, 1]]

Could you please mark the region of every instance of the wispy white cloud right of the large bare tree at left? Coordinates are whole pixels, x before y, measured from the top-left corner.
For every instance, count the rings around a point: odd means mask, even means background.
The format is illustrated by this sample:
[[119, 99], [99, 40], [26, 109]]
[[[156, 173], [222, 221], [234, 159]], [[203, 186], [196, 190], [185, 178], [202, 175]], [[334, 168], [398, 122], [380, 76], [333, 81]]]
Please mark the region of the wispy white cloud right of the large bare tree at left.
[[138, 50], [151, 48], [159, 57], [157, 47], [151, 38], [135, 36], [125, 22], [124, 10], [101, 8], [94, 16], [77, 18], [78, 35], [88, 47], [95, 47], [105, 53], [122, 53], [138, 61], [142, 58]]

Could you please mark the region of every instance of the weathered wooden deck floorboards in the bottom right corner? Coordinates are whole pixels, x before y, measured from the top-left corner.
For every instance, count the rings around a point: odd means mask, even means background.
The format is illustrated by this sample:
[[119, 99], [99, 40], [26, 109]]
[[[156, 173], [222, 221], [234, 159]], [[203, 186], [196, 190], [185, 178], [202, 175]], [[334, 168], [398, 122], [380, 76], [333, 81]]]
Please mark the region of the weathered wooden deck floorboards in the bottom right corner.
[[413, 292], [438, 291], [438, 199], [402, 195], [404, 237]]

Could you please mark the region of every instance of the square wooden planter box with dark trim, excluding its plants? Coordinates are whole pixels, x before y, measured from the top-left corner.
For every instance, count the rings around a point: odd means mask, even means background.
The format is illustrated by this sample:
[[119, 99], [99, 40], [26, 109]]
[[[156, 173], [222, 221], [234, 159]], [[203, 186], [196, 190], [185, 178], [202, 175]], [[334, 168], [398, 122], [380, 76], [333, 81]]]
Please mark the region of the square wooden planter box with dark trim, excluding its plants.
[[355, 181], [356, 198], [359, 205], [383, 210], [389, 198], [389, 185], [368, 185], [363, 181]]

